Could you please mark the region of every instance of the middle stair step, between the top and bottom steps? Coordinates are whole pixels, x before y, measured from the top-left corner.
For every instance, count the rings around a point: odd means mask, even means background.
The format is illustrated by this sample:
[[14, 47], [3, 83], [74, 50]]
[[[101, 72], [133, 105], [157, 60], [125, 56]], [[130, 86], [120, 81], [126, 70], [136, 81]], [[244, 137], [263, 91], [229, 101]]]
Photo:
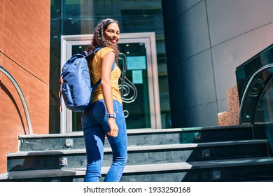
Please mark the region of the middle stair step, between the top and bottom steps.
[[[193, 162], [267, 156], [267, 140], [221, 141], [200, 144], [129, 146], [127, 165]], [[67, 165], [59, 165], [61, 159]], [[111, 165], [111, 148], [104, 148], [103, 165]], [[8, 171], [86, 167], [85, 149], [23, 151], [8, 154]]]

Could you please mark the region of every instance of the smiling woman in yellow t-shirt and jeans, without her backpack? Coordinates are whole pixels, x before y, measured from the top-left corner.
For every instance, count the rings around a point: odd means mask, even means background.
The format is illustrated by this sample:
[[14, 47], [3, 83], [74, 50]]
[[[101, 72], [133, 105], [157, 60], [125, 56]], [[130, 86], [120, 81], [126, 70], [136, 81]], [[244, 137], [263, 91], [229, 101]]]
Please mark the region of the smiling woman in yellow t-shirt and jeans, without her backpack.
[[92, 84], [101, 78], [100, 85], [94, 90], [92, 104], [82, 116], [83, 133], [87, 154], [87, 169], [84, 181], [99, 181], [102, 176], [104, 158], [104, 139], [109, 140], [113, 162], [104, 181], [120, 181], [127, 161], [127, 130], [123, 113], [122, 99], [118, 88], [121, 71], [113, 62], [118, 61], [118, 40], [120, 27], [113, 19], [99, 22], [94, 29], [92, 43], [87, 52], [97, 51], [88, 64]]

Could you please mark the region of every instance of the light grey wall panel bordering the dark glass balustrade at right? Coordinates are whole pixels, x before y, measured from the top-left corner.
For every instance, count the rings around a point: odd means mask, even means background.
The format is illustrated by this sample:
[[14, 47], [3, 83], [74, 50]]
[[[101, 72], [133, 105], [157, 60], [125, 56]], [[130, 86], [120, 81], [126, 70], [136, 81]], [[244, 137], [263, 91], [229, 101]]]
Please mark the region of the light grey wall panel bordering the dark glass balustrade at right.
[[273, 41], [273, 24], [255, 29], [212, 48], [217, 99], [226, 99], [226, 91], [237, 85], [235, 70]]

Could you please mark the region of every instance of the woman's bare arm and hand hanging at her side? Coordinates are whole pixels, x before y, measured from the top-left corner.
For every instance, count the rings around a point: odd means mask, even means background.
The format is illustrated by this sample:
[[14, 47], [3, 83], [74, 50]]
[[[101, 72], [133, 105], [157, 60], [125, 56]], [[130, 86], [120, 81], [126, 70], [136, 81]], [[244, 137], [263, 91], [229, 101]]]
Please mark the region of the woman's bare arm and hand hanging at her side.
[[[114, 113], [112, 87], [111, 87], [111, 80], [110, 80], [111, 68], [112, 68], [114, 59], [115, 59], [114, 52], [108, 52], [102, 58], [102, 81], [100, 85], [102, 88], [102, 94], [104, 96], [104, 102], [105, 102], [108, 113]], [[118, 125], [116, 124], [115, 118], [109, 118], [108, 123], [110, 126], [110, 131], [107, 134], [109, 134], [109, 136], [111, 137], [117, 137]]]

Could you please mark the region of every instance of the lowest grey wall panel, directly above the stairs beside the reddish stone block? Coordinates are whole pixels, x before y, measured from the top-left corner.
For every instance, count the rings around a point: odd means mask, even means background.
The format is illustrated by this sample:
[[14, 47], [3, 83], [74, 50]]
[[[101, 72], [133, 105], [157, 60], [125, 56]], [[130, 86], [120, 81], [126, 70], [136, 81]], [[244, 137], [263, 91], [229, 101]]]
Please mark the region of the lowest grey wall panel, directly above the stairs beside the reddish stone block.
[[206, 127], [218, 125], [216, 102], [172, 111], [173, 127]]

